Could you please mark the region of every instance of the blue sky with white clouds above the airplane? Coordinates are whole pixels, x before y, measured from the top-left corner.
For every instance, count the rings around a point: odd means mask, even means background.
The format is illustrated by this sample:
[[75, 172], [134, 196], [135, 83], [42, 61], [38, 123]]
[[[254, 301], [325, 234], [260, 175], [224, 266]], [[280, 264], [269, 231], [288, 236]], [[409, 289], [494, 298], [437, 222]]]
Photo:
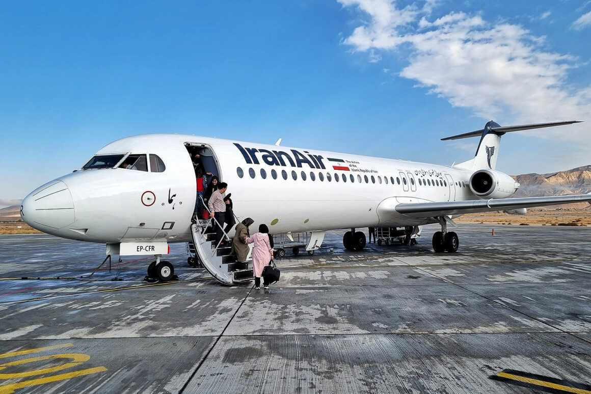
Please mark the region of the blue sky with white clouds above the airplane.
[[[591, 1], [11, 2], [0, 37], [0, 206], [134, 134], [451, 164], [491, 118], [591, 124]], [[590, 164], [586, 124], [499, 169]]]

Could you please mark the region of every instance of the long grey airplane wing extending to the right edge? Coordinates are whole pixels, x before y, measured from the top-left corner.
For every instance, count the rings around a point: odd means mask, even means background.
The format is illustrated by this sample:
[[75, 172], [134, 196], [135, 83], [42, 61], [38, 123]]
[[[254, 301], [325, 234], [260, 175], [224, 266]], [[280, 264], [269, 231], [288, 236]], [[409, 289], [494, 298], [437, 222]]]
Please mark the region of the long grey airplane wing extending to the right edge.
[[419, 202], [417, 204], [398, 204], [399, 214], [413, 218], [427, 218], [447, 215], [471, 214], [473, 212], [505, 211], [506, 209], [530, 208], [532, 206], [568, 204], [569, 202], [589, 202], [591, 193], [570, 196], [497, 198], [488, 200]]

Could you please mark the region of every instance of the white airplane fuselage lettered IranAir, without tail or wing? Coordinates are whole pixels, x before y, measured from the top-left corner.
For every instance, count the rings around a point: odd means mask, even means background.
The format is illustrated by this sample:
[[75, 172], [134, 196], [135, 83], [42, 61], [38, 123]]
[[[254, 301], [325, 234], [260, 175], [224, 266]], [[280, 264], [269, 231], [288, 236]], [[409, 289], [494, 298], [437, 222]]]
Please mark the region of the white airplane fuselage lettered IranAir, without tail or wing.
[[[209, 148], [239, 220], [272, 233], [395, 227], [434, 218], [381, 215], [381, 204], [478, 198], [472, 171], [313, 149], [179, 134], [123, 138], [96, 155], [155, 154], [164, 172], [78, 170], [34, 190], [22, 218], [59, 237], [97, 243], [191, 240], [196, 177], [187, 144]], [[504, 190], [511, 195], [514, 188]]]

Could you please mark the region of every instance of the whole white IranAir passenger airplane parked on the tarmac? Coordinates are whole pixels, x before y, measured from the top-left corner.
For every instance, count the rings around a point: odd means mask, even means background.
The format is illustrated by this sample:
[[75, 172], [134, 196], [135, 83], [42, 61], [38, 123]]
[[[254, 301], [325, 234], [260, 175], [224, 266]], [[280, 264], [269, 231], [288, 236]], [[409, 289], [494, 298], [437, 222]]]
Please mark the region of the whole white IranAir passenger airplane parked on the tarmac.
[[[443, 140], [480, 136], [476, 156], [453, 166], [380, 159], [179, 134], [122, 138], [99, 150], [80, 170], [31, 192], [21, 217], [32, 227], [73, 240], [105, 243], [107, 254], [154, 255], [148, 276], [171, 279], [174, 267], [160, 257], [168, 243], [192, 241], [199, 259], [222, 283], [252, 280], [248, 264], [212, 243], [215, 222], [191, 224], [196, 176], [191, 160], [228, 183], [239, 221], [264, 223], [271, 234], [311, 232], [307, 250], [320, 247], [324, 231], [342, 228], [349, 250], [365, 246], [362, 227], [402, 227], [407, 239], [419, 226], [439, 223], [436, 252], [455, 252], [453, 218], [469, 212], [525, 213], [525, 208], [591, 201], [591, 195], [508, 198], [519, 184], [495, 170], [501, 136], [576, 121], [501, 127]], [[209, 230], [208, 230], [209, 229]], [[230, 234], [225, 234], [229, 237]]]

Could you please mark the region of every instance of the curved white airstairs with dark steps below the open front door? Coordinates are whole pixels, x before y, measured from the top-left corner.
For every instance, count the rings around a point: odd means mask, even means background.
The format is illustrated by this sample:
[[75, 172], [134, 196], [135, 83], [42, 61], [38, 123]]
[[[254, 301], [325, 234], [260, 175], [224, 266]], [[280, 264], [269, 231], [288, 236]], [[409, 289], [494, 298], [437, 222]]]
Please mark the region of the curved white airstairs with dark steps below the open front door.
[[224, 285], [251, 282], [254, 279], [254, 273], [252, 267], [249, 267], [249, 262], [236, 262], [230, 246], [216, 249], [215, 230], [209, 223], [209, 221], [200, 221], [199, 224], [191, 225], [195, 254], [203, 267]]

